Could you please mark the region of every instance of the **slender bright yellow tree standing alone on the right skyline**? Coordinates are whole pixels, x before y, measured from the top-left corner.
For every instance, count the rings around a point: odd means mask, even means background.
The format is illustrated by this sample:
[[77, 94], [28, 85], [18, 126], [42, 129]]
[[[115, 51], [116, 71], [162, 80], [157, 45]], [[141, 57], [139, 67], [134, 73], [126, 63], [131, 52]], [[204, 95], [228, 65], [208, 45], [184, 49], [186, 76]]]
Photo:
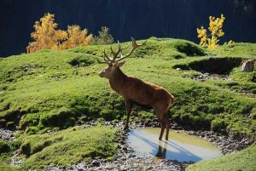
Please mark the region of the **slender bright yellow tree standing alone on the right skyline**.
[[198, 37], [201, 39], [200, 45], [202, 47], [214, 49], [218, 47], [219, 37], [224, 36], [223, 25], [224, 25], [224, 14], [221, 14], [220, 18], [209, 17], [209, 27], [208, 30], [211, 32], [207, 35], [207, 30], [201, 26], [201, 29], [197, 28]]

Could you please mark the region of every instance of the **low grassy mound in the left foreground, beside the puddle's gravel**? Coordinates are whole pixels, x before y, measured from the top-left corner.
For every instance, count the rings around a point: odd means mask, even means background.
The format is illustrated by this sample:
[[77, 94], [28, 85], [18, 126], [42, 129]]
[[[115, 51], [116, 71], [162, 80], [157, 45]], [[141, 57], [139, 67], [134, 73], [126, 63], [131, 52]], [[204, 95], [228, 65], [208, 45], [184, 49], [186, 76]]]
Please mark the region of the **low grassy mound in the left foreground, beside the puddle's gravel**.
[[118, 151], [118, 134], [116, 128], [97, 126], [27, 136], [20, 146], [26, 160], [19, 169], [42, 169], [49, 164], [67, 166], [93, 158], [111, 160]]

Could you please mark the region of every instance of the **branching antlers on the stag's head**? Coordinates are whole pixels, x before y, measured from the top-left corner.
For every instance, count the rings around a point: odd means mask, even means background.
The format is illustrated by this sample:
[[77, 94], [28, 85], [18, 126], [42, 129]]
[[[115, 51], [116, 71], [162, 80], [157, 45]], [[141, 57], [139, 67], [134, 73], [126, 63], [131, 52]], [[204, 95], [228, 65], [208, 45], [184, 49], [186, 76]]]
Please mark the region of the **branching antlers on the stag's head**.
[[[117, 61], [120, 61], [120, 60], [124, 60], [125, 58], [127, 58], [128, 56], [130, 56], [130, 55], [132, 54], [132, 52], [133, 52], [136, 48], [138, 48], [138, 47], [140, 47], [140, 46], [143, 46], [146, 42], [147, 42], [147, 41], [145, 41], [145, 42], [142, 43], [142, 44], [137, 44], [136, 40], [135, 40], [133, 37], [131, 37], [131, 45], [132, 45], [132, 48], [131, 48], [130, 52], [124, 56], [124, 55], [123, 55], [123, 50], [126, 49], [126, 48], [128, 48], [128, 47], [130, 46], [130, 43], [128, 43], [128, 45], [127, 45], [125, 48], [122, 48], [121, 43], [119, 43], [119, 41], [118, 41], [118, 49], [117, 49], [115, 52], [113, 51], [112, 45], [110, 46], [110, 50], [111, 50], [110, 54], [113, 55], [113, 58], [111, 58], [110, 56], [108, 56], [108, 55], [106, 54], [105, 49], [104, 49], [104, 52], [103, 52], [103, 59], [104, 59], [105, 61], [100, 61], [98, 58], [96, 58], [96, 60], [97, 60], [99, 63], [105, 63], [105, 64], [106, 64], [106, 63], [107, 63], [107, 64], [109, 64], [109, 63], [114, 63], [114, 62], [117, 62]], [[119, 54], [121, 54], [121, 55], [120, 55], [120, 57], [118, 58], [118, 55], [119, 55]], [[117, 58], [118, 58], [118, 59], [117, 59]], [[116, 60], [116, 59], [117, 59], [117, 60]]]

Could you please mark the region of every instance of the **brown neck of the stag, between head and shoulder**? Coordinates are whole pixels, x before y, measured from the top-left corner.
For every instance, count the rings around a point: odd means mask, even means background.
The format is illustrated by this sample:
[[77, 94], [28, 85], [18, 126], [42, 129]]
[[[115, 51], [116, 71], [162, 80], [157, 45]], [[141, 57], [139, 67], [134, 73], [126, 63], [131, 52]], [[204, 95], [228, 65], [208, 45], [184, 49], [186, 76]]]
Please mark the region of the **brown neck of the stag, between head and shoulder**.
[[112, 77], [109, 78], [110, 87], [113, 88], [114, 91], [120, 92], [120, 90], [123, 88], [123, 84], [125, 83], [126, 78], [127, 76], [124, 74], [124, 72], [117, 68], [113, 72]]

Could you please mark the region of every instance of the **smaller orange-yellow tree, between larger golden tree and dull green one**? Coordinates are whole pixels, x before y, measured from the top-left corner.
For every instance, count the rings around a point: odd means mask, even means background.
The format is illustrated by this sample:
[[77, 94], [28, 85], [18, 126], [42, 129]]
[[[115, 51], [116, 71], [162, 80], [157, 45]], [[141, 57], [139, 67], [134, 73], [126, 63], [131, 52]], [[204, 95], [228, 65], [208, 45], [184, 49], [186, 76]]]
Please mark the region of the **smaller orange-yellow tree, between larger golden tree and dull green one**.
[[80, 30], [80, 26], [67, 26], [67, 40], [60, 46], [61, 49], [74, 48], [78, 46], [89, 45], [92, 34], [87, 36], [87, 29]]

